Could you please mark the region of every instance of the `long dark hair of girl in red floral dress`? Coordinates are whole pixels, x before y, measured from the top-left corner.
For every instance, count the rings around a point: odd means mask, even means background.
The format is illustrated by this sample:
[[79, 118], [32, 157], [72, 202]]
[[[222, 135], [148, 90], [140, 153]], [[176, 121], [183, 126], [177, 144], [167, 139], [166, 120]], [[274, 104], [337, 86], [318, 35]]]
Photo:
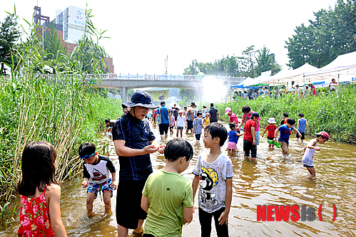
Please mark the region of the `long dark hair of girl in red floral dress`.
[[30, 142], [26, 144], [21, 156], [22, 180], [19, 183], [19, 194], [32, 196], [44, 191], [47, 185], [56, 181], [56, 149], [49, 142]]

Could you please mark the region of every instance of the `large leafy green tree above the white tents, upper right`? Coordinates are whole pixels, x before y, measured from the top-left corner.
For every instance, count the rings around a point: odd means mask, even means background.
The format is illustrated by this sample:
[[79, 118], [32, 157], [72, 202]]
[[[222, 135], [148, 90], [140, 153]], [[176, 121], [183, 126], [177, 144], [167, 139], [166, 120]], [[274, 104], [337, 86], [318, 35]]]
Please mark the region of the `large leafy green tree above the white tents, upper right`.
[[295, 28], [295, 35], [285, 41], [288, 66], [295, 69], [305, 63], [321, 68], [337, 56], [356, 51], [356, 1], [337, 0], [335, 9], [321, 9]]

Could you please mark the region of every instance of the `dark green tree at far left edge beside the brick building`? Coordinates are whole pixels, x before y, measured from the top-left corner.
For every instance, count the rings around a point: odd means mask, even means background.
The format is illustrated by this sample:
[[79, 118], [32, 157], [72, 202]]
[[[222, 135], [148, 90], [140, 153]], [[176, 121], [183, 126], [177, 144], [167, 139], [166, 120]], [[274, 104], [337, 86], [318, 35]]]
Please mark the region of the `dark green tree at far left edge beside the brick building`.
[[[19, 27], [17, 26], [17, 16], [9, 14], [0, 26], [0, 74], [4, 74], [4, 63], [11, 65], [11, 53], [16, 41], [20, 37]], [[14, 58], [14, 63], [17, 63]]]

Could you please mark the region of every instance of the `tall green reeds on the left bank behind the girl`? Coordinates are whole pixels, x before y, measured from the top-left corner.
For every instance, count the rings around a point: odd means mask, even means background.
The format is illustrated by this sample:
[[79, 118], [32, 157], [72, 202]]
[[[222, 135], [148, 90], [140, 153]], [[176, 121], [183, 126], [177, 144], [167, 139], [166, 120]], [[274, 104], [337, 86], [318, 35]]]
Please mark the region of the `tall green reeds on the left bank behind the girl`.
[[[21, 153], [28, 142], [54, 144], [56, 177], [63, 181], [81, 167], [78, 146], [83, 142], [96, 144], [103, 120], [121, 114], [121, 101], [104, 98], [85, 80], [86, 73], [76, 69], [86, 63], [94, 72], [101, 73], [96, 70], [101, 58], [88, 60], [86, 55], [86, 61], [80, 61], [77, 59], [80, 57], [73, 60], [73, 54], [66, 56], [59, 52], [54, 63], [64, 58], [66, 68], [55, 68], [56, 76], [39, 73], [44, 68], [44, 53], [35, 27], [29, 26], [26, 42], [14, 48], [13, 54], [20, 63], [15, 65], [13, 61], [9, 65], [10, 77], [0, 77], [0, 214], [6, 223], [10, 218], [9, 203], [15, 198], [21, 177]], [[84, 39], [82, 46], [86, 42], [90, 41]], [[77, 52], [80, 56], [80, 47]]]

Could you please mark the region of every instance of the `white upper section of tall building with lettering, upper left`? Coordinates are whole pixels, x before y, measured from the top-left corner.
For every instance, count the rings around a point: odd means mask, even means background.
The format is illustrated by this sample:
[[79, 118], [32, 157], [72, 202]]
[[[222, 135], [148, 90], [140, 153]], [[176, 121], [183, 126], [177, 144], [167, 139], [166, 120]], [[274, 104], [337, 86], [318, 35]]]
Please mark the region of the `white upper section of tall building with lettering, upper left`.
[[76, 6], [56, 11], [54, 23], [63, 26], [63, 41], [77, 43], [83, 37], [86, 24], [86, 11]]

